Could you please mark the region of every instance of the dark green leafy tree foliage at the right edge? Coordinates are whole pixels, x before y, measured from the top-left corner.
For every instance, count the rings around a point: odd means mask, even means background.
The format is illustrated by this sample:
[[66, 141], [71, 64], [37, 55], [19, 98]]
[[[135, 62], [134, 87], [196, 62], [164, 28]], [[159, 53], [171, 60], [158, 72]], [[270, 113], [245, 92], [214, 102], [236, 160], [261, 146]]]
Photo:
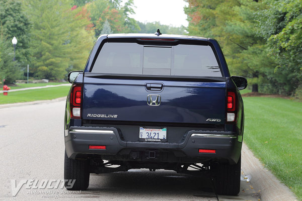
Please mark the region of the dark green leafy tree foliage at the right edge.
[[259, 12], [259, 33], [268, 40], [270, 56], [276, 60], [275, 72], [285, 78], [286, 91], [302, 84], [302, 1], [266, 0], [267, 8]]

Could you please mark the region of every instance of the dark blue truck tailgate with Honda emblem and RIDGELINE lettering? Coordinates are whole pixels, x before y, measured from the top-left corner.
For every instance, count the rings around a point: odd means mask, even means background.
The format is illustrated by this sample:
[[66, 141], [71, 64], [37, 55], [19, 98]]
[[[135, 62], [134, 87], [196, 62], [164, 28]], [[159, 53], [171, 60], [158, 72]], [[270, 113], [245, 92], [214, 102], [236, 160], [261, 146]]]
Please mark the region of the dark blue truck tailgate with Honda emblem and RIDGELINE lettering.
[[83, 82], [84, 120], [224, 124], [225, 80], [221, 78], [171, 80], [89, 74]]

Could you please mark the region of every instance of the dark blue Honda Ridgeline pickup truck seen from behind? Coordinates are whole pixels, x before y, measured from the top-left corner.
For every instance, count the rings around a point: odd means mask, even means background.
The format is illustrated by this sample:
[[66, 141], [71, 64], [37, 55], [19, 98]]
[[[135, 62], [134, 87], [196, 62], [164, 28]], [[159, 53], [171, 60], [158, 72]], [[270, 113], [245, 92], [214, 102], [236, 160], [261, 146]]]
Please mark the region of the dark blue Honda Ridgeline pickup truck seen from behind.
[[98, 38], [65, 110], [64, 179], [132, 168], [208, 174], [238, 194], [244, 77], [232, 76], [214, 39], [161, 34]]

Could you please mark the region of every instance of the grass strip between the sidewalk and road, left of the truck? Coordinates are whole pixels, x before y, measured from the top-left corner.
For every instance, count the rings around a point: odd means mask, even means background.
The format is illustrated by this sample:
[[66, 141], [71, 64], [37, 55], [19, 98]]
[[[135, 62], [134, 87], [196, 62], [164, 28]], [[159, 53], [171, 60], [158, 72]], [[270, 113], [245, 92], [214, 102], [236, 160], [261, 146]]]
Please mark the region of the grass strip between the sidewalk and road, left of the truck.
[[0, 104], [13, 104], [31, 102], [35, 100], [49, 100], [67, 96], [70, 86], [56, 86], [40, 89], [29, 89], [23, 91], [12, 91], [8, 95], [0, 94]]

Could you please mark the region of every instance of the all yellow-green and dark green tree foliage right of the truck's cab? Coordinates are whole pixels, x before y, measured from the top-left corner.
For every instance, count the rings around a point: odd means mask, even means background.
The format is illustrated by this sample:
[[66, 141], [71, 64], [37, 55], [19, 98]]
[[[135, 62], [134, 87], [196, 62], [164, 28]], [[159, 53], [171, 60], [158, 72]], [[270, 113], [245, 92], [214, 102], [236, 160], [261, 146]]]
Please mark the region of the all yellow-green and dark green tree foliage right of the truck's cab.
[[220, 42], [232, 73], [262, 92], [290, 94], [301, 80], [301, 0], [186, 0], [190, 35]]

